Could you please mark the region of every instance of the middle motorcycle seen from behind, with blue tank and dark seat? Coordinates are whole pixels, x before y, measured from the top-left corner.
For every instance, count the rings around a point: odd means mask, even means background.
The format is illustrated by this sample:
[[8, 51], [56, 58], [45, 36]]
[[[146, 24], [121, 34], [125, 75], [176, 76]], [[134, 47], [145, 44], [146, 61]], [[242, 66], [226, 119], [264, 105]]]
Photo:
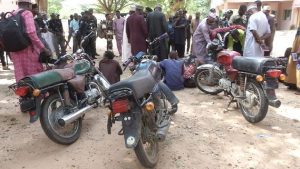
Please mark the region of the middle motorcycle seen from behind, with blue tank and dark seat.
[[[160, 84], [162, 70], [155, 56], [139, 53], [125, 62], [134, 62], [133, 75], [108, 89], [108, 134], [112, 124], [122, 122], [119, 135], [124, 135], [127, 148], [134, 149], [140, 163], [153, 168], [158, 162], [158, 142], [164, 141], [170, 127], [171, 114]], [[124, 69], [124, 70], [125, 70]]]

